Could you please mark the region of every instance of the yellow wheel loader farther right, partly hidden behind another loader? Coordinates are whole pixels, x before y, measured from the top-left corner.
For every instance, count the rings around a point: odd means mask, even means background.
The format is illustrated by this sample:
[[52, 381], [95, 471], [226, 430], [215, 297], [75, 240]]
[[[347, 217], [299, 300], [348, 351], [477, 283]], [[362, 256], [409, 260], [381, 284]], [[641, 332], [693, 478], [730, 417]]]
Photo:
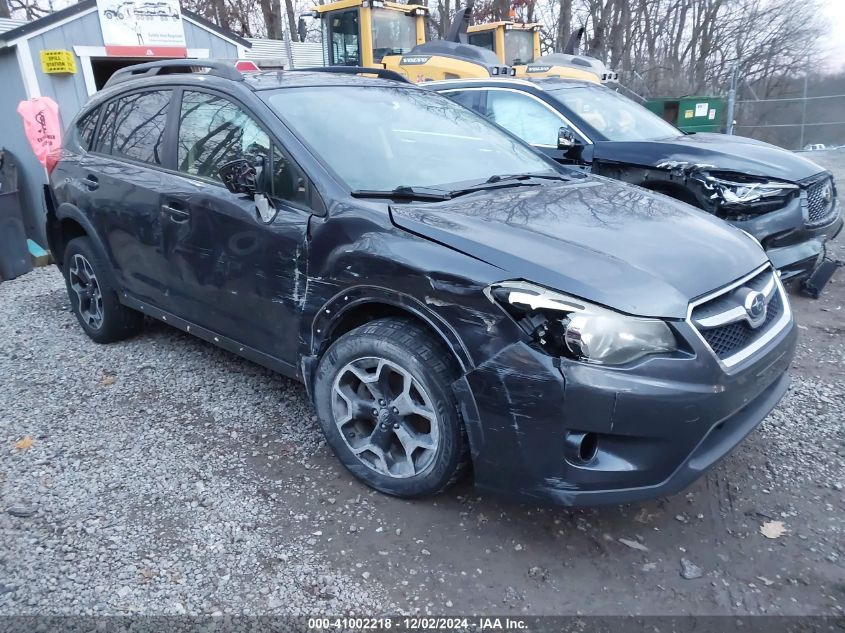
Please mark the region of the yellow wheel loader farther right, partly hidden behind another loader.
[[583, 29], [575, 31], [564, 53], [540, 54], [542, 25], [519, 22], [488, 22], [467, 29], [469, 43], [496, 53], [499, 61], [516, 69], [517, 77], [564, 77], [595, 83], [616, 81], [618, 75], [595, 57], [575, 55]]

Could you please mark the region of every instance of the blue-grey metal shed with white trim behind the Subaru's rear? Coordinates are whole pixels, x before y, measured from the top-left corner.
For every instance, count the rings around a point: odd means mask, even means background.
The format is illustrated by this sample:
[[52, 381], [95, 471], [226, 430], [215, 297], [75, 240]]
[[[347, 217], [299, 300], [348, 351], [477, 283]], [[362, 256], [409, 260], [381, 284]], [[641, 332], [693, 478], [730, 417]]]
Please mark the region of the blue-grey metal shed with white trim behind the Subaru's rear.
[[[107, 0], [100, 0], [101, 4]], [[121, 6], [121, 3], [112, 3]], [[123, 2], [132, 5], [132, 2]], [[148, 11], [160, 11], [165, 2], [140, 2]], [[175, 4], [178, 11], [178, 3]], [[110, 8], [114, 14], [115, 9]], [[42, 186], [46, 172], [35, 159], [24, 136], [16, 109], [24, 99], [51, 97], [59, 104], [63, 127], [79, 111], [88, 97], [103, 87], [119, 68], [149, 61], [151, 58], [189, 57], [243, 58], [251, 44], [231, 31], [190, 11], [181, 11], [184, 47], [172, 49], [137, 46], [138, 41], [114, 46], [103, 35], [102, 6], [97, 0], [84, 0], [39, 20], [20, 23], [4, 20], [0, 24], [0, 147], [10, 151], [18, 163], [24, 221], [28, 236], [46, 248]], [[176, 13], [173, 21], [177, 21]], [[17, 24], [15, 24], [17, 22]], [[5, 32], [3, 29], [8, 28]], [[140, 38], [139, 38], [140, 39]], [[112, 46], [108, 46], [111, 43]], [[119, 43], [122, 44], [122, 43]], [[135, 45], [135, 46], [133, 46]], [[45, 65], [42, 52], [65, 60], [59, 68]], [[72, 70], [72, 72], [71, 72]]]

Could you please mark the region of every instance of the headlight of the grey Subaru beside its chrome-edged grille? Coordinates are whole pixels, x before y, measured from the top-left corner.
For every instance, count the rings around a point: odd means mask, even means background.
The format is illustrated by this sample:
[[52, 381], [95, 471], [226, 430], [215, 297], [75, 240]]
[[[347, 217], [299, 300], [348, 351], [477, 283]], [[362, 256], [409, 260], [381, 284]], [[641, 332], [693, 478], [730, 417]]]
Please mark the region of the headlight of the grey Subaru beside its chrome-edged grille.
[[677, 349], [672, 330], [659, 319], [620, 314], [523, 281], [487, 291], [550, 354], [621, 365]]

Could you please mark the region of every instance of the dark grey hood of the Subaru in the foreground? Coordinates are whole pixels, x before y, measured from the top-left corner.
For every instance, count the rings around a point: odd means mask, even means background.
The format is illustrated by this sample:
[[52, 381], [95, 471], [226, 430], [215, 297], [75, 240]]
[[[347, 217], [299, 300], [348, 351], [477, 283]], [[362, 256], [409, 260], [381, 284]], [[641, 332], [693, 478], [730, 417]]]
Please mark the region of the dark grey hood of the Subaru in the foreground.
[[742, 231], [669, 197], [590, 176], [397, 204], [394, 224], [524, 279], [640, 316], [684, 318], [691, 299], [767, 261]]

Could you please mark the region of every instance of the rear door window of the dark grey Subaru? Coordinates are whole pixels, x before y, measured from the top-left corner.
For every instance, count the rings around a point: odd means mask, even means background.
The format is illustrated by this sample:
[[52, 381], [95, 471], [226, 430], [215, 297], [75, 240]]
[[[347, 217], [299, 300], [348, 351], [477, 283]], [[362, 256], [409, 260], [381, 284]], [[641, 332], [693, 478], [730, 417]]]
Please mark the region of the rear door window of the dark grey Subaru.
[[172, 90], [138, 92], [106, 105], [97, 151], [144, 163], [164, 163], [164, 127]]

